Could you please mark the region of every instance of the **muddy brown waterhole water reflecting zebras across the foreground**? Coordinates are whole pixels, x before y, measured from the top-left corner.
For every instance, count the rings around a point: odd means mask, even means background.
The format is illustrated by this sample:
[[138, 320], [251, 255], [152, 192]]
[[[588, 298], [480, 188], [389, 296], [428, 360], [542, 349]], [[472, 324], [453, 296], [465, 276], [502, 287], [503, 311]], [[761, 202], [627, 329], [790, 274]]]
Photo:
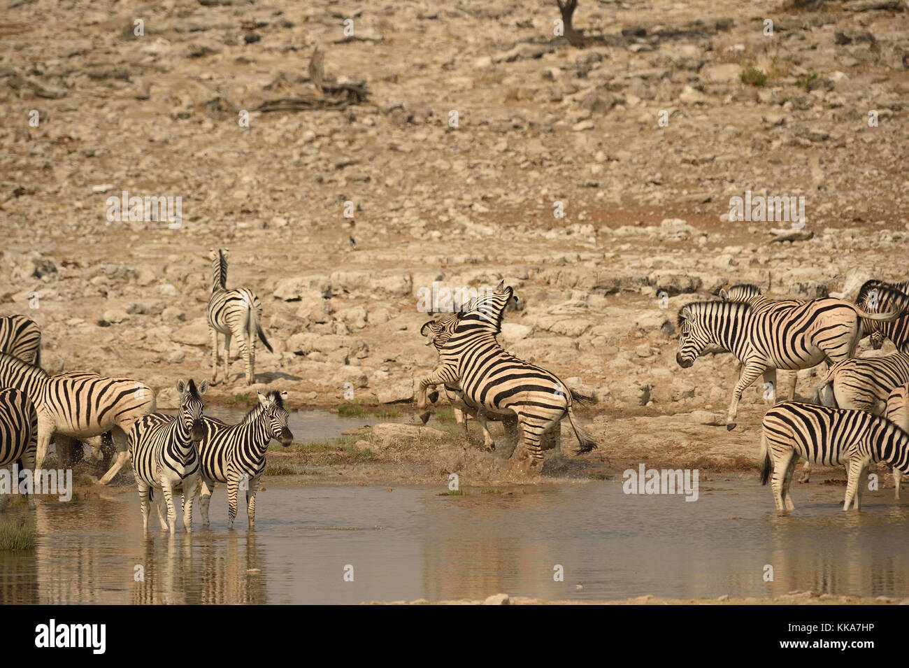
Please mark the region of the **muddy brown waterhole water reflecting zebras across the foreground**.
[[[0, 554], [0, 603], [909, 596], [909, 506], [894, 504], [892, 489], [844, 513], [842, 487], [799, 485], [797, 510], [779, 517], [753, 476], [702, 482], [696, 502], [626, 495], [617, 481], [464, 496], [438, 496], [444, 486], [304, 484], [259, 494], [253, 532], [242, 512], [240, 528], [226, 529], [218, 488], [211, 529], [174, 538], [156, 527], [143, 537], [135, 494], [39, 503], [35, 553]], [[556, 564], [564, 582], [554, 581]], [[773, 582], [764, 582], [768, 564]]]

